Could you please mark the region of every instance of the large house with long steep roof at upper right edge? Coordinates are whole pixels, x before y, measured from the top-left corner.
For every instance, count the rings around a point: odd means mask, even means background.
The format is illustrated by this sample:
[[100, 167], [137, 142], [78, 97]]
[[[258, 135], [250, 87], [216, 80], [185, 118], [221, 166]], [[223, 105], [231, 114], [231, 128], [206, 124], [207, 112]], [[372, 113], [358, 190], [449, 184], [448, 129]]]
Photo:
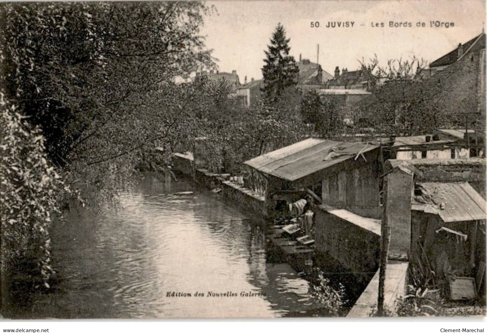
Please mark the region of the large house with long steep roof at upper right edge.
[[373, 95], [359, 105], [372, 117], [380, 104], [395, 105], [399, 115], [403, 105], [429, 101], [423, 104], [441, 110], [451, 126], [485, 130], [485, 43], [486, 35], [482, 33], [463, 48], [433, 61], [431, 70], [419, 70], [411, 80], [389, 80], [376, 86]]

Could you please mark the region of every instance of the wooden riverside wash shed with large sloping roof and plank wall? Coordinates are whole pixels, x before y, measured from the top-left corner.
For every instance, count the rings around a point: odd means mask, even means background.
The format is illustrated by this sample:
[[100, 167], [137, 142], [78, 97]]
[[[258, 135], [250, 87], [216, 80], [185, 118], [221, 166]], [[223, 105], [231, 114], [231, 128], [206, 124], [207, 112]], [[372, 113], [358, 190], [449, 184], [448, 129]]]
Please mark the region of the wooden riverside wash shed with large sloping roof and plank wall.
[[271, 192], [319, 184], [325, 204], [378, 206], [379, 158], [380, 147], [373, 144], [310, 138], [244, 164], [265, 175]]

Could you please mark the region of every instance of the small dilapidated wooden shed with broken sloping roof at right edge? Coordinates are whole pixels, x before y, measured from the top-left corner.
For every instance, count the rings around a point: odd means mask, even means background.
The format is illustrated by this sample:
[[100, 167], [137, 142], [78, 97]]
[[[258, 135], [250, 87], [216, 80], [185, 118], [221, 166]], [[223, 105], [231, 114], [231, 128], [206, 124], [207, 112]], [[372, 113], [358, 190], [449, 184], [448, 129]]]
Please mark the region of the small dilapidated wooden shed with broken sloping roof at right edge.
[[412, 253], [438, 279], [474, 277], [485, 262], [486, 200], [467, 182], [416, 182], [411, 227]]

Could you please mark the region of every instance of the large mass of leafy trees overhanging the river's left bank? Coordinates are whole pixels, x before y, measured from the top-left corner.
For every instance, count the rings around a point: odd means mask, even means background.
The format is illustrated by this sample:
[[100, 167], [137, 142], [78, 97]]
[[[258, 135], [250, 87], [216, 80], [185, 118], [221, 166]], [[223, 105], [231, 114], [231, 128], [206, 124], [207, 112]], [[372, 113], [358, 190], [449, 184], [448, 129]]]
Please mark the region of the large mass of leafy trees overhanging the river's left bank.
[[169, 164], [195, 132], [198, 87], [175, 78], [214, 66], [200, 35], [210, 11], [193, 1], [0, 4], [1, 273], [37, 263], [47, 282], [62, 198], [80, 189], [95, 207], [114, 200], [140, 151], [164, 147]]

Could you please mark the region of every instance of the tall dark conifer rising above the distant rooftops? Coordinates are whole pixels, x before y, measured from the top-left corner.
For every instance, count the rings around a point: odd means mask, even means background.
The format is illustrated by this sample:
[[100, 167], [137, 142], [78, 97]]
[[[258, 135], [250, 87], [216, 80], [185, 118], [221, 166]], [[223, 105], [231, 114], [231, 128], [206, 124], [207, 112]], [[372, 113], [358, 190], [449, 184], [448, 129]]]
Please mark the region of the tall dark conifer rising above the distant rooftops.
[[271, 45], [264, 51], [266, 58], [262, 68], [264, 91], [268, 98], [280, 96], [286, 87], [294, 86], [298, 79], [298, 68], [294, 57], [289, 55], [290, 39], [286, 39], [286, 31], [281, 23], [272, 34]]

